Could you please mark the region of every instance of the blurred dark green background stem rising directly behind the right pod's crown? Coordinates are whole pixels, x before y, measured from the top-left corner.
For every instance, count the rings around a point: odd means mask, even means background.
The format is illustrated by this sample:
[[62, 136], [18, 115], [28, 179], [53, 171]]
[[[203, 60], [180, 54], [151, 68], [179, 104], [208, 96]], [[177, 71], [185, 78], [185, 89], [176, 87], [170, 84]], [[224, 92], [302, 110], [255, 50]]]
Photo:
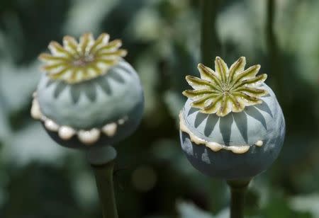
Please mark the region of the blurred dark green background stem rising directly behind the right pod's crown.
[[216, 29], [219, 1], [201, 2], [201, 62], [206, 66], [211, 66], [213, 59], [220, 55], [220, 42]]

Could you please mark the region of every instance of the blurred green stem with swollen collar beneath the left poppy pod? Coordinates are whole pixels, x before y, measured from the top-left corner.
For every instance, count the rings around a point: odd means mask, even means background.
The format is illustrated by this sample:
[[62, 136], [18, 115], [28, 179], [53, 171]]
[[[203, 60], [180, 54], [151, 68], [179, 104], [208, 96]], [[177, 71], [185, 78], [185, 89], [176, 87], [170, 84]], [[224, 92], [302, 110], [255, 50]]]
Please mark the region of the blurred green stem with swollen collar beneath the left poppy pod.
[[111, 146], [92, 148], [86, 153], [94, 171], [103, 218], [118, 218], [113, 188], [113, 167], [116, 150]]

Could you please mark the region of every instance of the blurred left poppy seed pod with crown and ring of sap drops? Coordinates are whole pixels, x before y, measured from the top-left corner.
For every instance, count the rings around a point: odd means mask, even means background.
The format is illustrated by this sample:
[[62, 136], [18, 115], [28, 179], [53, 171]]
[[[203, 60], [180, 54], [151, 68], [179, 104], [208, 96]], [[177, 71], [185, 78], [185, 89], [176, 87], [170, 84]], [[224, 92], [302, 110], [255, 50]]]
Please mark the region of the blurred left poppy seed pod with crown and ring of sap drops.
[[40, 54], [45, 74], [33, 96], [31, 115], [65, 147], [113, 144], [127, 137], [142, 117], [140, 79], [122, 58], [121, 40], [103, 33], [79, 40], [66, 36], [63, 46], [50, 42], [52, 54]]

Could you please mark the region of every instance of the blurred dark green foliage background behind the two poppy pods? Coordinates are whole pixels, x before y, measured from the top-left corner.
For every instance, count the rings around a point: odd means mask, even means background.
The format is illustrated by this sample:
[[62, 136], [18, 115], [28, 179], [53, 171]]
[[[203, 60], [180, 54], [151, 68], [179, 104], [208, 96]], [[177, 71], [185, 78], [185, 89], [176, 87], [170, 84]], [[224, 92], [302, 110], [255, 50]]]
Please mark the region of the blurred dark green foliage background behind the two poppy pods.
[[[262, 64], [286, 117], [279, 159], [250, 184], [247, 217], [319, 217], [319, 1], [212, 1], [214, 54]], [[84, 154], [52, 142], [29, 115], [38, 54], [87, 31], [121, 38], [145, 88], [138, 131], [116, 145], [119, 217], [228, 217], [225, 182], [196, 171], [179, 145], [200, 21], [198, 0], [1, 0], [0, 217], [101, 217]]]

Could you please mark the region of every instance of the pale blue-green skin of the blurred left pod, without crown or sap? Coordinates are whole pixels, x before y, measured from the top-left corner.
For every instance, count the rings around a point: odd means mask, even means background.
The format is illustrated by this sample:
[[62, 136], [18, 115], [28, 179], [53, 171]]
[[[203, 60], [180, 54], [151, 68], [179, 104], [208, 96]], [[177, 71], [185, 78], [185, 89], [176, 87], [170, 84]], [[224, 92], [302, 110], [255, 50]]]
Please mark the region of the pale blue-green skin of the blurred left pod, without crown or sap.
[[[111, 67], [107, 74], [78, 84], [52, 80], [43, 74], [38, 84], [37, 98], [45, 117], [57, 125], [69, 126], [74, 130], [101, 128], [126, 118], [123, 125], [118, 125], [113, 137], [103, 135], [94, 146], [114, 144], [130, 135], [138, 127], [144, 108], [138, 74], [123, 59]], [[76, 136], [62, 140], [57, 137], [57, 132], [47, 132], [66, 147], [83, 145]]]

